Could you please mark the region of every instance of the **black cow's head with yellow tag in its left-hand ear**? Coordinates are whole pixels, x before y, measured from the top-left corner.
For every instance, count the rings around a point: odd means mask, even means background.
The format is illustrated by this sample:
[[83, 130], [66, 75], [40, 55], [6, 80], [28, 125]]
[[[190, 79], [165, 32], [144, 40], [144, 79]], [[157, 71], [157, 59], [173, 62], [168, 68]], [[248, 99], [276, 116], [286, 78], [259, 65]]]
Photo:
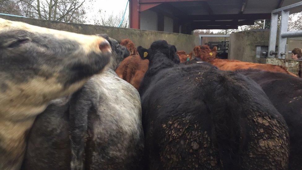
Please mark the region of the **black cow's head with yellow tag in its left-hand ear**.
[[139, 46], [137, 47], [137, 51], [141, 58], [152, 60], [156, 53], [162, 53], [174, 63], [180, 63], [179, 57], [176, 54], [176, 47], [168, 44], [165, 40], [154, 41], [149, 49]]

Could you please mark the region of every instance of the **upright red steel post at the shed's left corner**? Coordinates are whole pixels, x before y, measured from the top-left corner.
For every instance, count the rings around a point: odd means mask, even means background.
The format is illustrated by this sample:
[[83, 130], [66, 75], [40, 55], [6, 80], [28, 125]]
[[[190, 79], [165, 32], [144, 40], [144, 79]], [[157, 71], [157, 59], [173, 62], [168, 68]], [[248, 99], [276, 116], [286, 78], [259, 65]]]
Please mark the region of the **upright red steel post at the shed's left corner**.
[[130, 0], [130, 28], [140, 29], [140, 4], [138, 0]]

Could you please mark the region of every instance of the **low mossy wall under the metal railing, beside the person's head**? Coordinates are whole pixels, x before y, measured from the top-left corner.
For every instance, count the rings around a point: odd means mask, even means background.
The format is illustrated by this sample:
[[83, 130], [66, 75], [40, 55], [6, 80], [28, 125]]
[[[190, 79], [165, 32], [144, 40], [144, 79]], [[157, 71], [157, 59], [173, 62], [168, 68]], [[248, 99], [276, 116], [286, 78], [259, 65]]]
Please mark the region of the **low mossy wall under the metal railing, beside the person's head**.
[[274, 58], [267, 58], [267, 64], [274, 64], [278, 66], [285, 66], [289, 72], [296, 74], [297, 76], [302, 77], [302, 61], [293, 60], [293, 59], [274, 59]]

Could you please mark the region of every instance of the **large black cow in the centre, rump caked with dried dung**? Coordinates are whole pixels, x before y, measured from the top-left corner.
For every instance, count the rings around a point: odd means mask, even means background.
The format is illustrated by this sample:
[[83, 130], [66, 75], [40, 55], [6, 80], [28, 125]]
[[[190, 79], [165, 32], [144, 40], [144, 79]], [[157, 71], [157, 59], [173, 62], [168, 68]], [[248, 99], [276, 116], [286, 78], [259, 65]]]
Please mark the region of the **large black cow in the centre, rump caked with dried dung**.
[[177, 64], [155, 41], [139, 89], [148, 169], [285, 169], [288, 128], [257, 83], [203, 63]]

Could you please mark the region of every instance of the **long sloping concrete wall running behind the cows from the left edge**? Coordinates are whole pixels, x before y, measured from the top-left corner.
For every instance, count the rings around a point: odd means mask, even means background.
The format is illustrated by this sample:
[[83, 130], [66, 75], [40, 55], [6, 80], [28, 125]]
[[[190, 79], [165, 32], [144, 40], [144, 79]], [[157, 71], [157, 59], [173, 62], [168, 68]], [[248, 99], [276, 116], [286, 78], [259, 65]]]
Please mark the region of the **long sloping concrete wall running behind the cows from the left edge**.
[[106, 33], [110, 37], [120, 41], [125, 38], [130, 38], [136, 46], [143, 46], [149, 48], [151, 43], [155, 40], [166, 40], [168, 43], [176, 46], [177, 50], [184, 50], [190, 52], [199, 43], [199, 38], [192, 35], [178, 34], [178, 33], [166, 33], [158, 31], [145, 31], [139, 29], [130, 28], [116, 28], [105, 27], [98, 25], [86, 25], [86, 24], [73, 24], [56, 22], [50, 20], [37, 20], [30, 18], [18, 18], [10, 16], [0, 16], [1, 18], [14, 21], [22, 21], [28, 24], [37, 25], [40, 27], [64, 30], [81, 34], [101, 34]]

